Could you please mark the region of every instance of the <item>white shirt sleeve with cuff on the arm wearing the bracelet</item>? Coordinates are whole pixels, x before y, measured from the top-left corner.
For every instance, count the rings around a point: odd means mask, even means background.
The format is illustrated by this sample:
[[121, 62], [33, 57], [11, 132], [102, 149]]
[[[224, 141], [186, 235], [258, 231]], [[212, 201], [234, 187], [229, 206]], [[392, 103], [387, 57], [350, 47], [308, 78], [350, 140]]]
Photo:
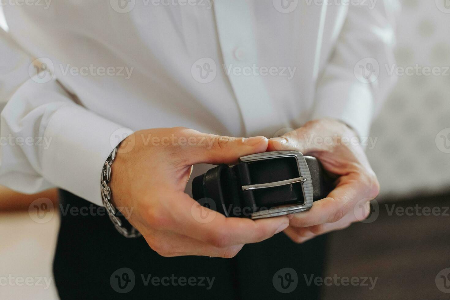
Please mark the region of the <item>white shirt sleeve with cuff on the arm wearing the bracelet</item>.
[[0, 184], [22, 193], [63, 188], [102, 205], [101, 170], [123, 126], [76, 104], [56, 78], [42, 82], [4, 31], [0, 49]]

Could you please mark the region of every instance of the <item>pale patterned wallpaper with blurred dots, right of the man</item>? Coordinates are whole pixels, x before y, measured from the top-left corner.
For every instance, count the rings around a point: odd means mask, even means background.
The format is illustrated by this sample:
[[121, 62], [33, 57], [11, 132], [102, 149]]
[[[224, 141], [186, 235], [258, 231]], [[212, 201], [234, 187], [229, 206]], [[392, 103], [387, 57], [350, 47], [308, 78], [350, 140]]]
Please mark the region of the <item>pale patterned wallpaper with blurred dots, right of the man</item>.
[[367, 149], [381, 196], [450, 188], [450, 0], [403, 0], [401, 6], [400, 76], [372, 126], [377, 143]]

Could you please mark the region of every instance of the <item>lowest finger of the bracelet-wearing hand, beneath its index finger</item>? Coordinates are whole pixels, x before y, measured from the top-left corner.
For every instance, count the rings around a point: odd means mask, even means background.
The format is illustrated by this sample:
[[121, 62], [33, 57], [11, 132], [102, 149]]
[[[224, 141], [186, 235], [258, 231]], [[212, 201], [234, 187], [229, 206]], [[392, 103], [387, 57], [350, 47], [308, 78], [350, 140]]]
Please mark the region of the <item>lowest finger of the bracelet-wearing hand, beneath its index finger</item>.
[[148, 245], [165, 257], [201, 255], [232, 258], [242, 249], [243, 244], [219, 248], [178, 233], [156, 231], [145, 237]]

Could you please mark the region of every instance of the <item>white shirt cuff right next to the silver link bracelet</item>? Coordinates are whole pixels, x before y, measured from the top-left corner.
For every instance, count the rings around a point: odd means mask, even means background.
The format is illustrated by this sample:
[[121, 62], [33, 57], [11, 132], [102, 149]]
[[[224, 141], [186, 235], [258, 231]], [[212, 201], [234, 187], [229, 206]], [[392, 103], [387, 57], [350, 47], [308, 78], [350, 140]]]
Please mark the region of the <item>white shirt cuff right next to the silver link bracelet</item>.
[[103, 206], [100, 178], [112, 149], [126, 138], [124, 129], [81, 106], [56, 110], [45, 129], [43, 175], [52, 184]]

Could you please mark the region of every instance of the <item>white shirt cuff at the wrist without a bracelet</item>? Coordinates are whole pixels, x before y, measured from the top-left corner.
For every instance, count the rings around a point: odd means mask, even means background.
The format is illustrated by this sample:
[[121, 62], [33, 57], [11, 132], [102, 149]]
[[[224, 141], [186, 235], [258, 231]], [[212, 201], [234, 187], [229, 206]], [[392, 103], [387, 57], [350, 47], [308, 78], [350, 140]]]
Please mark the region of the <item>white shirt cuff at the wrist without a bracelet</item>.
[[360, 82], [333, 82], [317, 91], [312, 119], [330, 117], [350, 126], [360, 137], [369, 136], [374, 114], [370, 85]]

